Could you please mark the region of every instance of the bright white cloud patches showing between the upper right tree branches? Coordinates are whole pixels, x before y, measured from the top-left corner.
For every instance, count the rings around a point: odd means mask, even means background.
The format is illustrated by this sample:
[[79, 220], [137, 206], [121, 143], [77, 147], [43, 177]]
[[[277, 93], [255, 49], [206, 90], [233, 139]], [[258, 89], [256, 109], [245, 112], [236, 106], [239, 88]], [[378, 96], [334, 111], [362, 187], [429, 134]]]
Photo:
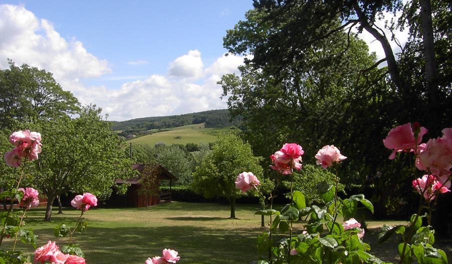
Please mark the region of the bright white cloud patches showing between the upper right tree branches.
[[[397, 12], [395, 15], [396, 15], [396, 17], [398, 17], [398, 16], [400, 16], [400, 14], [401, 14], [401, 11]], [[377, 20], [375, 22], [375, 25], [378, 26], [379, 28], [381, 28], [384, 31], [384, 33], [386, 34], [386, 37], [389, 40], [389, 43], [390, 43], [391, 48], [392, 48], [392, 51], [394, 53], [397, 53], [397, 52], [401, 51], [400, 47], [396, 44], [395, 41], [390, 40], [391, 39], [391, 35], [392, 35], [390, 30], [384, 28], [385, 21], [386, 20], [390, 21], [391, 18], [393, 18], [393, 17], [394, 17], [394, 15], [392, 13], [384, 12], [383, 13], [383, 18], [380, 19], [380, 20]], [[396, 19], [396, 18], [394, 18], [394, 19]], [[353, 28], [353, 31], [357, 32], [357, 29]], [[405, 45], [407, 39], [408, 39], [408, 29], [405, 28], [404, 31], [400, 31], [398, 29], [394, 29], [393, 32], [395, 34], [395, 38], [397, 39], [397, 41], [403, 47]], [[363, 29], [362, 33], [358, 34], [358, 37], [361, 38], [362, 40], [364, 40], [367, 43], [367, 45], [369, 47], [369, 52], [375, 52], [377, 60], [385, 57], [384, 50], [381, 47], [381, 43], [378, 40], [376, 40], [375, 37], [372, 36], [372, 34], [370, 34], [365, 29]], [[382, 64], [380, 64], [380, 65], [382, 65]]]

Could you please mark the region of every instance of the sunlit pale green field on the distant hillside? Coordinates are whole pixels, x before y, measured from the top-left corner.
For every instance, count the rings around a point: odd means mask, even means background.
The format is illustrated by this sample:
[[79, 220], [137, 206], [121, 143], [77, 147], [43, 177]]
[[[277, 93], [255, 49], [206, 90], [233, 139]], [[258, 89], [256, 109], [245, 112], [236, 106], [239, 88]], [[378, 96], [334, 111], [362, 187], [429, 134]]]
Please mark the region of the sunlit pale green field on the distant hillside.
[[221, 133], [231, 131], [229, 128], [205, 128], [204, 123], [190, 124], [156, 132], [127, 140], [127, 143], [154, 146], [158, 142], [165, 144], [210, 143], [216, 141]]

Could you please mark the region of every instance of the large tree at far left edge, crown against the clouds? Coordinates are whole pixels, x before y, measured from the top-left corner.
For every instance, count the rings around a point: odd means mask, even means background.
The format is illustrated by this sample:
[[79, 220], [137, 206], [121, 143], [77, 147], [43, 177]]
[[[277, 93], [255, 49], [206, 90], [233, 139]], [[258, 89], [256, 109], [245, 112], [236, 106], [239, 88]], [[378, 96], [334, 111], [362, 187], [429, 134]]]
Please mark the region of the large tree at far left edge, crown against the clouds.
[[0, 70], [0, 129], [53, 119], [79, 109], [78, 100], [61, 88], [52, 73], [27, 64]]

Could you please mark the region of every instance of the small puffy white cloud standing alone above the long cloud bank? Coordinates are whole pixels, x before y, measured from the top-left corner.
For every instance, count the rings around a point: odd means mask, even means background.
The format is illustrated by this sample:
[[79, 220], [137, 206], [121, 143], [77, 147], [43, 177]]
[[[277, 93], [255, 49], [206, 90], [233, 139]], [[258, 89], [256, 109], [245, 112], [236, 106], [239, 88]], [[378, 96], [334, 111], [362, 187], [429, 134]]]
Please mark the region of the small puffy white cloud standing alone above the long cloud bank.
[[201, 52], [197, 49], [189, 50], [187, 54], [174, 59], [169, 63], [168, 73], [171, 76], [191, 79], [201, 77], [203, 73]]

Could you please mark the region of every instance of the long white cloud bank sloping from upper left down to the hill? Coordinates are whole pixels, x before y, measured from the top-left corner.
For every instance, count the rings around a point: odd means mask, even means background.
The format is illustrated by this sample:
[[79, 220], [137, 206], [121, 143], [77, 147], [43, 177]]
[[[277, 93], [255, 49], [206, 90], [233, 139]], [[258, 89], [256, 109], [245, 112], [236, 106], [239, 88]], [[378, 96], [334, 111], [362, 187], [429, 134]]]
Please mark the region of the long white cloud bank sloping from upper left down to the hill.
[[[62, 38], [50, 21], [36, 18], [23, 6], [5, 4], [0, 8], [0, 67], [7, 68], [6, 58], [11, 58], [16, 64], [27, 63], [53, 72], [80, 103], [102, 107], [109, 120], [226, 108], [226, 102], [219, 99], [222, 89], [216, 82], [222, 74], [237, 72], [237, 66], [243, 63], [241, 56], [223, 54], [204, 68], [201, 52], [189, 50], [169, 62], [166, 75], [104, 75], [110, 71], [107, 61], [90, 54], [80, 41]], [[111, 89], [105, 85], [87, 86], [86, 78], [96, 78], [96, 83], [126, 82]]]

